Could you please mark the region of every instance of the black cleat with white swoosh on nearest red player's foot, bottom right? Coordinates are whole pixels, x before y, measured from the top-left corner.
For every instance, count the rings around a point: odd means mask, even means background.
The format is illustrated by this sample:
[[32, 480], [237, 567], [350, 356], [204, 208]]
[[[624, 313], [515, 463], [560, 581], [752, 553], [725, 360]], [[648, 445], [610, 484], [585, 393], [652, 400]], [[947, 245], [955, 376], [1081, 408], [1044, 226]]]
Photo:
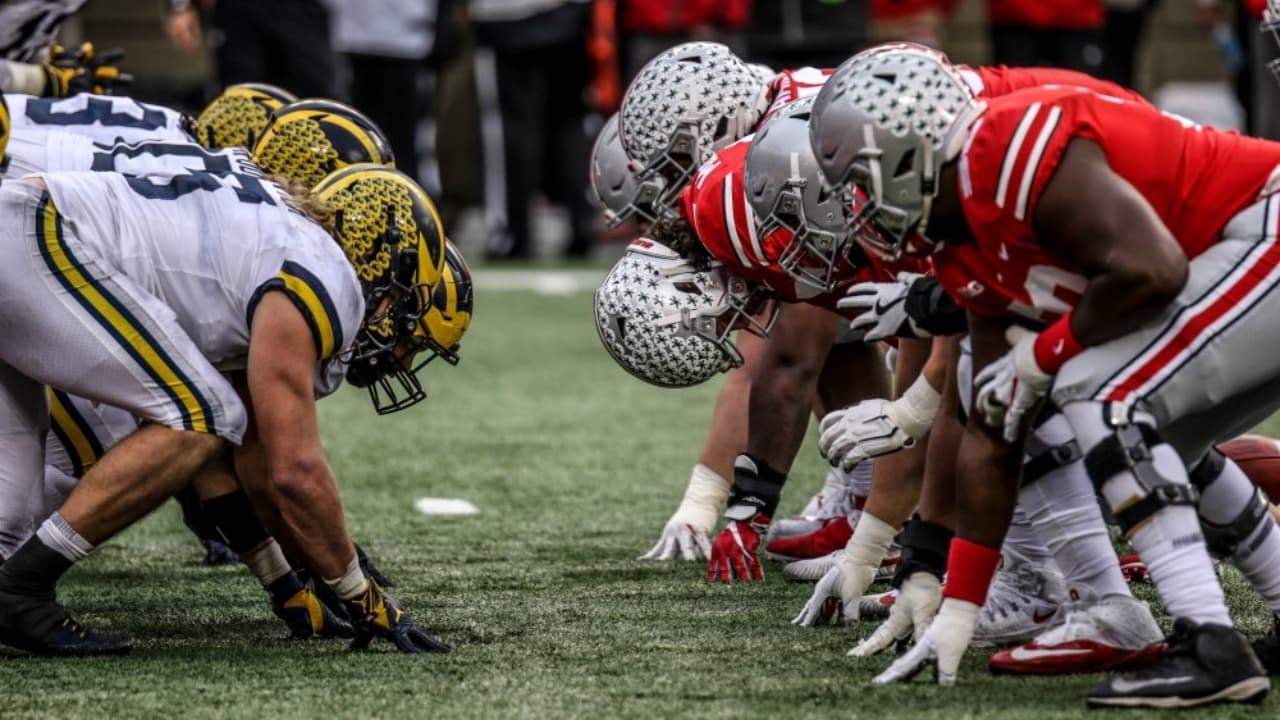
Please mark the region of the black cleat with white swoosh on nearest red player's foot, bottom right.
[[1225, 625], [1176, 620], [1160, 662], [1115, 675], [1089, 691], [1091, 707], [1197, 707], [1262, 702], [1271, 680], [1248, 642]]

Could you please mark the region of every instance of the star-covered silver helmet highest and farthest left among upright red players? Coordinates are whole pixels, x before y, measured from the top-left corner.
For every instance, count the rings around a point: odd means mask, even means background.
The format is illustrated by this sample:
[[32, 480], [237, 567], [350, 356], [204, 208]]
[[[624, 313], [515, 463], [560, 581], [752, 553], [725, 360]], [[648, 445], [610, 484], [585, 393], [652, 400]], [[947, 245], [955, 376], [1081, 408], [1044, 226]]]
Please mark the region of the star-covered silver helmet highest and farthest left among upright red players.
[[622, 146], [652, 183], [654, 213], [671, 208], [694, 170], [755, 128], [768, 83], [718, 42], [686, 42], [649, 60], [622, 97]]

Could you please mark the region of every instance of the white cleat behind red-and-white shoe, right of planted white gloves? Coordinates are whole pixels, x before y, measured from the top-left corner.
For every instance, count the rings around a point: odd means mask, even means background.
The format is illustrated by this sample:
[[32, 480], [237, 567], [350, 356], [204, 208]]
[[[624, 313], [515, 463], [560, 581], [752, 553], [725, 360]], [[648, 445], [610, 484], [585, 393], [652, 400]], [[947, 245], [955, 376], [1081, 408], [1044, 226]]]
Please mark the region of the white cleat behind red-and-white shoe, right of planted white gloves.
[[1001, 568], [991, 582], [987, 602], [978, 614], [973, 644], [1024, 643], [1056, 626], [1066, 600], [1062, 574], [1005, 550]]

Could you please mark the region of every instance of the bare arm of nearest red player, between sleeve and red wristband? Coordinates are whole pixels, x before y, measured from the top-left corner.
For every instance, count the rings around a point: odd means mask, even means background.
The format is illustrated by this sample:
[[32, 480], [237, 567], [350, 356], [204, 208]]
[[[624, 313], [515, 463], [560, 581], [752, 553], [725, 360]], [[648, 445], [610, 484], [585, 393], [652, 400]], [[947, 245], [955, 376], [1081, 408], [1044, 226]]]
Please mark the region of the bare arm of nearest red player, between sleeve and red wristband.
[[1187, 283], [1178, 241], [1094, 142], [1071, 141], [1034, 219], [1043, 242], [1089, 278], [1070, 320], [1084, 346], [1142, 325]]

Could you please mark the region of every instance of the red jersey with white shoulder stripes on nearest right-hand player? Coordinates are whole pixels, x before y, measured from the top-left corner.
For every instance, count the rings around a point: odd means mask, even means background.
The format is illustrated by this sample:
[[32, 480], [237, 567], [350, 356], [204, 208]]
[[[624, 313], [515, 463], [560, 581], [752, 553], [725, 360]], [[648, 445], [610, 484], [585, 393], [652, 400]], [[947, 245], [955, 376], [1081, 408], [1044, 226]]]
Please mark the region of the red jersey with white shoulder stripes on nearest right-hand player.
[[1280, 165], [1280, 143], [1201, 127], [1146, 102], [1078, 87], [993, 99], [959, 159], [973, 242], [945, 243], [933, 256], [938, 279], [960, 305], [1039, 323], [1075, 306], [1088, 281], [1038, 242], [1033, 219], [1076, 137], [1102, 149], [1188, 258], [1217, 242]]

